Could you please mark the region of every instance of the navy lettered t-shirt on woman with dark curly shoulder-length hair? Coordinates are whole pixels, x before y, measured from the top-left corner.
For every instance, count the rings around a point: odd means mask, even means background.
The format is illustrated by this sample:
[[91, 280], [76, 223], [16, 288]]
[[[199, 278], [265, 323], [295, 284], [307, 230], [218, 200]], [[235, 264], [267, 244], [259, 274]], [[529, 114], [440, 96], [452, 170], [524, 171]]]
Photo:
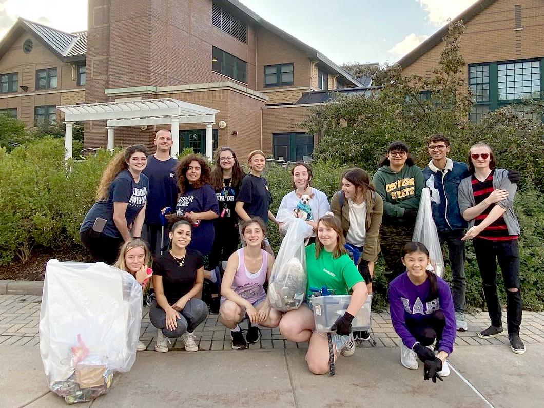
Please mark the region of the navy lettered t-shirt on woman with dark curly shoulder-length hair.
[[[205, 213], [206, 211], [213, 211], [219, 215], [217, 197], [209, 184], [204, 184], [196, 189], [189, 188], [177, 200], [176, 213], [183, 215], [188, 212]], [[213, 220], [200, 220], [198, 226], [193, 226], [191, 243], [188, 248], [199, 251], [202, 255], [208, 255], [212, 250], [214, 238]]]

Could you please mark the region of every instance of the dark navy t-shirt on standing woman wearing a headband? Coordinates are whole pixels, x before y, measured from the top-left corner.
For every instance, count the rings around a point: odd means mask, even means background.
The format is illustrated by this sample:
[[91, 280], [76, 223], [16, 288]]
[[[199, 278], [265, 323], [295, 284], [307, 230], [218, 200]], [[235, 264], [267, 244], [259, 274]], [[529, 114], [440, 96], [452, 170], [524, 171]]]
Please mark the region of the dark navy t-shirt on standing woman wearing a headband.
[[246, 175], [240, 184], [236, 201], [244, 203], [244, 211], [250, 217], [261, 217], [265, 224], [268, 224], [268, 210], [272, 203], [272, 194], [266, 178], [252, 174]]

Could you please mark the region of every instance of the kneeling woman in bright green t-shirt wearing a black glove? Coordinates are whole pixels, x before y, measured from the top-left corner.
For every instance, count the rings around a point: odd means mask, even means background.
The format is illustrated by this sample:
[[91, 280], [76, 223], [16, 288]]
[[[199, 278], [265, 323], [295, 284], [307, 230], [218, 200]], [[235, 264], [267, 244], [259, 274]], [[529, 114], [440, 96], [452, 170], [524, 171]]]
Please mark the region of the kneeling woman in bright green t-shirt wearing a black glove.
[[[327, 288], [336, 295], [347, 295], [351, 291], [348, 310], [336, 321], [336, 333], [332, 334], [333, 353], [352, 355], [355, 342], [351, 333], [351, 321], [361, 309], [368, 296], [367, 286], [344, 249], [344, 236], [340, 220], [325, 215], [317, 224], [316, 243], [306, 247], [307, 292], [310, 288]], [[329, 341], [326, 333], [314, 330], [313, 312], [305, 302], [297, 310], [287, 312], [281, 319], [280, 332], [293, 342], [308, 342], [306, 362], [314, 374], [329, 372]]]

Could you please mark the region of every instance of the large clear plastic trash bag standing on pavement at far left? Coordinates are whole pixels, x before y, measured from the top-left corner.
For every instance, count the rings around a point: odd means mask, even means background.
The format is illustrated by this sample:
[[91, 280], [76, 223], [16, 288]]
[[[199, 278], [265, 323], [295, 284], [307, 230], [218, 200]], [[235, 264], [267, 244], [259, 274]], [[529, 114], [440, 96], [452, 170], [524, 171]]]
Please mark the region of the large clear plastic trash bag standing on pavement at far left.
[[136, 359], [141, 286], [100, 263], [47, 262], [40, 310], [40, 354], [48, 385], [67, 404], [108, 392], [113, 373]]

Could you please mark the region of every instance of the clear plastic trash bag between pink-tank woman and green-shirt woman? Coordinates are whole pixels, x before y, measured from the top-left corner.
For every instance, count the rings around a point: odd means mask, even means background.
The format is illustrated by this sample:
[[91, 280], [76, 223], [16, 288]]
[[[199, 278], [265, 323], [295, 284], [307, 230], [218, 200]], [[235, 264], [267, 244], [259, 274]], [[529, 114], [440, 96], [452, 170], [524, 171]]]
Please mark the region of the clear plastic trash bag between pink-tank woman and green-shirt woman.
[[272, 308], [287, 312], [298, 308], [306, 297], [304, 240], [312, 234], [312, 227], [286, 209], [280, 210], [276, 219], [285, 222], [287, 233], [270, 274], [268, 300]]

